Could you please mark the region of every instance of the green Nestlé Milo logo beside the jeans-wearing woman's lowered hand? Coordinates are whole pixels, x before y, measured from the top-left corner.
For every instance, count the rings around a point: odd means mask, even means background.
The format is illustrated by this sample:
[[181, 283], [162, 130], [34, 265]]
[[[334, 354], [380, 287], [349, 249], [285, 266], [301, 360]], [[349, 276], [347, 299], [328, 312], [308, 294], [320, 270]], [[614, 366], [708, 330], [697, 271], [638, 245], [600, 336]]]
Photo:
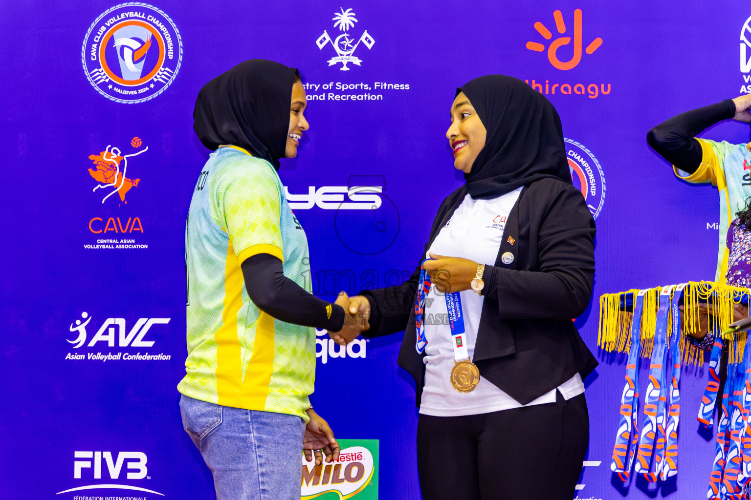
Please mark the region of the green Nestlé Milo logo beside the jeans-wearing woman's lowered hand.
[[300, 500], [378, 500], [378, 439], [339, 439], [339, 445], [336, 462], [315, 466], [303, 457]]

